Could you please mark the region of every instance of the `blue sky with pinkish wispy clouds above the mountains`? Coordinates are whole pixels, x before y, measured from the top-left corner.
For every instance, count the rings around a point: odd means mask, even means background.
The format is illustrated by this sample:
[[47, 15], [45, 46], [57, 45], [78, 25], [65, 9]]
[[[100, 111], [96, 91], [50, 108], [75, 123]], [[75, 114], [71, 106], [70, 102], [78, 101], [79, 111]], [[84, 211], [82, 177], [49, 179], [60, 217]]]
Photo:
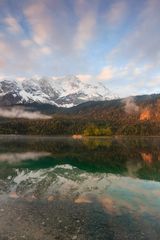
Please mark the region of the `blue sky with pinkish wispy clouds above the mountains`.
[[0, 0], [0, 79], [35, 75], [160, 92], [160, 0]]

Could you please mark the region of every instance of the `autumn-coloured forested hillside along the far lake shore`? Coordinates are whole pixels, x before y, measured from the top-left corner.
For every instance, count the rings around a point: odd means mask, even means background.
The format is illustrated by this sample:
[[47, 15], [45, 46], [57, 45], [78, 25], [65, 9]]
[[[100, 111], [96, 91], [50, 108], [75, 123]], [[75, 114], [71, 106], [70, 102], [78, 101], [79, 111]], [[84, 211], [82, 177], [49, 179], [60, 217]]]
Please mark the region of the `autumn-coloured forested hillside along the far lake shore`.
[[50, 119], [0, 119], [1, 134], [160, 135], [160, 95], [87, 102], [72, 108], [26, 105]]

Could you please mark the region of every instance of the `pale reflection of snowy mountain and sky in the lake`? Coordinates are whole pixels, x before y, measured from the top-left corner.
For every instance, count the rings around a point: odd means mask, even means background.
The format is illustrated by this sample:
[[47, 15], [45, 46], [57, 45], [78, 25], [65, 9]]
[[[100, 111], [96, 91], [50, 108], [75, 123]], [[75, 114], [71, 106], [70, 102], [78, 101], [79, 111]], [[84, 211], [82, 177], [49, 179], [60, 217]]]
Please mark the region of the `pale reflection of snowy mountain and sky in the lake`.
[[[122, 208], [159, 214], [160, 183], [113, 174], [86, 173], [69, 165], [43, 170], [16, 170], [8, 177], [8, 197], [27, 201], [70, 199], [77, 204], [99, 202], [108, 212]], [[1, 194], [6, 194], [4, 189]]]

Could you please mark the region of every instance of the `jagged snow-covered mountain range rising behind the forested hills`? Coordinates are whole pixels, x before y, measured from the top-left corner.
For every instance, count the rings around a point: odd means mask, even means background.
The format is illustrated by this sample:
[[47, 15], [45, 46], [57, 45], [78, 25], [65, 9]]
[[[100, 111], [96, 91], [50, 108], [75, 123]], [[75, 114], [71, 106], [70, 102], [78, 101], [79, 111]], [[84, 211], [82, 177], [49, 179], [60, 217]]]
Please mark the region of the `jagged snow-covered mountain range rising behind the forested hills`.
[[72, 107], [86, 101], [113, 98], [102, 83], [90, 84], [76, 76], [0, 80], [0, 105], [36, 102]]

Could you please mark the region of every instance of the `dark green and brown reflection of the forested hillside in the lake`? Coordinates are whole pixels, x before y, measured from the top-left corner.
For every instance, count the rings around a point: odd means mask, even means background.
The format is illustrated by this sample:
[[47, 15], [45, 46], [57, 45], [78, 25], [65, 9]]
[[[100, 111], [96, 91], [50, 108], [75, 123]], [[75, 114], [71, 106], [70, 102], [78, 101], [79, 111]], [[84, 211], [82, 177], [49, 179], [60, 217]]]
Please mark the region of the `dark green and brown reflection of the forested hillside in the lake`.
[[159, 159], [160, 138], [0, 138], [0, 173], [6, 177], [9, 170], [69, 164], [87, 172], [159, 181]]

